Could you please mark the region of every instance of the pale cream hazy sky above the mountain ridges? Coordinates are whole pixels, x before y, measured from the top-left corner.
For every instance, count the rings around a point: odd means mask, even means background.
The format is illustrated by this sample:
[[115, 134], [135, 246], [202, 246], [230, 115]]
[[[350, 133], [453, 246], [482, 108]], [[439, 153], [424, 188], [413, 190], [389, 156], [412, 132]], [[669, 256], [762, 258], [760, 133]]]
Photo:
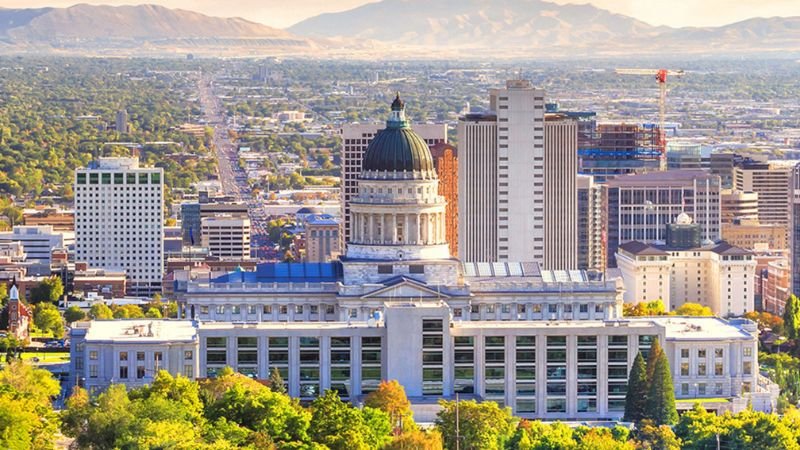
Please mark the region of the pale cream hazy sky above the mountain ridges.
[[[436, 1], [436, 0], [429, 0]], [[487, 0], [491, 1], [491, 0]], [[551, 0], [586, 3], [587, 0]], [[596, 6], [636, 17], [653, 25], [723, 25], [750, 17], [800, 16], [800, 0], [588, 0]], [[83, 0], [93, 4], [156, 3], [204, 14], [244, 17], [287, 27], [323, 12], [342, 11], [370, 0]], [[0, 0], [0, 7], [70, 6], [76, 0]]]

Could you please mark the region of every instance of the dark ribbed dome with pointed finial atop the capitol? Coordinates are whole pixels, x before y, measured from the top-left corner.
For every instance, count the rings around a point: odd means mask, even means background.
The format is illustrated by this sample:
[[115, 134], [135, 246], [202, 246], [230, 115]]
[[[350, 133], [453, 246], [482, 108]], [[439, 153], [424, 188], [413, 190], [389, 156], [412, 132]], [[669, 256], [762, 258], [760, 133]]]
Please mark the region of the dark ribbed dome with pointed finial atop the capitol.
[[432, 173], [433, 158], [428, 144], [408, 126], [400, 94], [392, 102], [386, 128], [379, 131], [364, 153], [364, 171]]

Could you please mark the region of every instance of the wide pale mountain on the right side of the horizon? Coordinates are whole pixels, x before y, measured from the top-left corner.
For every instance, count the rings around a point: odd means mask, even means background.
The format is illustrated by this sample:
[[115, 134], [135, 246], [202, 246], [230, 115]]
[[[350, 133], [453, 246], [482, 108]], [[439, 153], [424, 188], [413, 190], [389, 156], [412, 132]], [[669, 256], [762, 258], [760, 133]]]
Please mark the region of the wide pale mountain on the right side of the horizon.
[[713, 50], [800, 52], [800, 18], [751, 19], [722, 27], [655, 27], [589, 4], [544, 0], [383, 0], [301, 21], [309, 37], [374, 39], [399, 46], [564, 56]]

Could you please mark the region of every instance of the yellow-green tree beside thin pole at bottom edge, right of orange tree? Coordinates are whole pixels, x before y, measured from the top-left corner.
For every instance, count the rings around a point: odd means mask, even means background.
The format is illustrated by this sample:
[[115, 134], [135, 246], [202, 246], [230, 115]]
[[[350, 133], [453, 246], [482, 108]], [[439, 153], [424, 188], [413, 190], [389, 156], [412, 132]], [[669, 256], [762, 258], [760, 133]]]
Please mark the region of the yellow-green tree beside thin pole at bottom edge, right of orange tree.
[[503, 449], [517, 425], [511, 410], [500, 408], [495, 402], [442, 400], [439, 404], [442, 410], [436, 415], [436, 426], [442, 434], [445, 448], [456, 448], [456, 408], [460, 447], [464, 450]]

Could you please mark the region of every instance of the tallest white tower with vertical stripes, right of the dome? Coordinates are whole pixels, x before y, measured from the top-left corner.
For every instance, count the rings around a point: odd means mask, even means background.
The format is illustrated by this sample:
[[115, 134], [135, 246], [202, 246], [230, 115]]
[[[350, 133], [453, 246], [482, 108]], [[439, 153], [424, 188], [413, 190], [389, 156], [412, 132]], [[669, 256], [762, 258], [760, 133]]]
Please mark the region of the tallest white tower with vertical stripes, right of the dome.
[[577, 268], [577, 124], [546, 123], [525, 80], [493, 89], [490, 108], [459, 120], [459, 258]]

